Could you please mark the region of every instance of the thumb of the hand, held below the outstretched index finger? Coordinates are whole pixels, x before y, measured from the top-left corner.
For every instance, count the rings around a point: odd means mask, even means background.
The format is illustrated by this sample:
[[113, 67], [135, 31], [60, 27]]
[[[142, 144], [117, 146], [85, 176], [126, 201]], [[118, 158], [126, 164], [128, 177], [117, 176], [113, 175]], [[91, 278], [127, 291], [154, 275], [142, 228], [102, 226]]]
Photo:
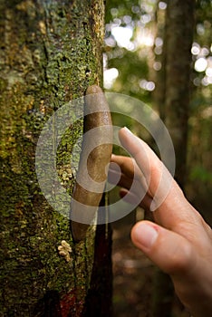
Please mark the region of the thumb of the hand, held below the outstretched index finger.
[[177, 233], [150, 221], [133, 226], [131, 240], [145, 255], [167, 274], [185, 274], [192, 267], [192, 247]]

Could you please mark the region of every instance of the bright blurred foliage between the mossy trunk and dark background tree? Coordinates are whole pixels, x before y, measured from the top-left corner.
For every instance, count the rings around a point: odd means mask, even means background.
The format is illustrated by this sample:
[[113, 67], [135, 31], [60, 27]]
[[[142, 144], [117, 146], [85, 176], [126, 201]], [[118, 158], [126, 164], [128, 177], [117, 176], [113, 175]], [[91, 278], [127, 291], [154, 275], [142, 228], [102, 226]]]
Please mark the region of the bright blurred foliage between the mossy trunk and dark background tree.
[[[147, 46], [146, 42], [149, 38], [145, 32], [153, 27], [155, 5], [156, 1], [150, 0], [122, 2], [115, 0], [108, 1], [106, 10], [106, 67], [116, 68], [119, 72], [112, 91], [122, 92], [146, 102], [150, 101], [151, 93], [140, 83], [141, 81], [148, 82], [151, 78], [149, 74], [151, 47]], [[132, 33], [126, 46], [124, 43], [119, 43], [113, 33], [114, 28], [119, 27], [122, 28], [123, 38], [125, 30], [126, 32], [130, 30]], [[147, 37], [146, 40], [145, 37]]]

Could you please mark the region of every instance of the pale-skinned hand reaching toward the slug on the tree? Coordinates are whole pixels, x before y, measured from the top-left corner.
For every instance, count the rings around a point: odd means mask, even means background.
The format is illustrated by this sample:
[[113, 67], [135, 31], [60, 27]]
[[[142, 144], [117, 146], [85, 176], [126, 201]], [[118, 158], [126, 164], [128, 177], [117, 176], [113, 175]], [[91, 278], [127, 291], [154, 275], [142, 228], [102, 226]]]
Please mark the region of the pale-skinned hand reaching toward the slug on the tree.
[[[166, 178], [159, 183], [164, 166], [143, 140], [123, 128], [120, 142], [133, 158], [111, 157], [109, 179], [112, 182], [120, 169], [120, 196], [129, 193], [132, 179], [136, 178], [138, 186], [135, 193], [128, 195], [129, 201], [138, 190], [147, 190], [141, 207], [150, 209], [152, 201], [162, 201], [153, 211], [155, 222], [143, 220], [133, 226], [133, 244], [170, 275], [178, 298], [193, 317], [212, 316], [211, 227], [189, 204], [177, 182], [173, 178], [170, 181], [168, 171], [168, 184]], [[158, 187], [159, 196], [154, 197]]]

